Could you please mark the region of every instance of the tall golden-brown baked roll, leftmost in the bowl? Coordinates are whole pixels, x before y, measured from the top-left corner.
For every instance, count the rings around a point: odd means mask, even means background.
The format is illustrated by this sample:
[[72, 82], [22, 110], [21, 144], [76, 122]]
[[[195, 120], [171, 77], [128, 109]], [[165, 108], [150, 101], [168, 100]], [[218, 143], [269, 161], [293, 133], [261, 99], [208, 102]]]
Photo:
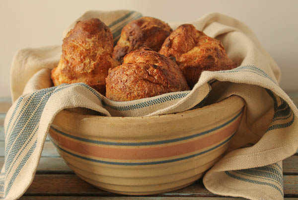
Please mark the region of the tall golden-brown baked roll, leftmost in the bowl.
[[102, 21], [78, 21], [63, 39], [61, 60], [51, 73], [54, 85], [83, 82], [104, 95], [108, 70], [119, 65], [112, 53], [113, 36]]

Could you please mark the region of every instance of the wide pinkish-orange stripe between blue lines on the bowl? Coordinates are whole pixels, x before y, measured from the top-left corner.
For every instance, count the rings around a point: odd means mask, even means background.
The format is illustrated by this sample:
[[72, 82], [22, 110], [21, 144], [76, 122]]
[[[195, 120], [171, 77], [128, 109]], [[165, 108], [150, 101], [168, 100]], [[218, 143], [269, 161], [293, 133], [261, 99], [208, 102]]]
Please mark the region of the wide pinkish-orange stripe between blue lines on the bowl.
[[178, 144], [168, 144], [166, 146], [154, 145], [149, 147], [146, 146], [136, 148], [105, 147], [90, 144], [87, 142], [77, 141], [54, 131], [50, 131], [50, 134], [51, 137], [56, 140], [59, 146], [86, 156], [106, 159], [143, 160], [179, 156], [212, 146], [233, 134], [233, 132], [236, 131], [240, 120], [241, 116], [239, 116], [228, 126], [217, 131], [216, 133], [213, 133], [212, 135], [203, 138], [188, 140], [187, 142], [181, 142]]

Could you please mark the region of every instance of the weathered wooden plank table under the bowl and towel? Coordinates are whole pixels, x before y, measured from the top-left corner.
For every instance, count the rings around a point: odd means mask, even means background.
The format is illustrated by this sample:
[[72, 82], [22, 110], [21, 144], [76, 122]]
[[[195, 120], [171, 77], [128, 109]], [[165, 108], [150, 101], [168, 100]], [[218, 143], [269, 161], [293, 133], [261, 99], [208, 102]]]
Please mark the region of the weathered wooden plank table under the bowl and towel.
[[[298, 105], [298, 92], [288, 92]], [[10, 107], [9, 98], [0, 99], [0, 167], [4, 161], [3, 121]], [[284, 194], [286, 200], [298, 200], [298, 153], [283, 161]], [[99, 198], [100, 197], [100, 198]], [[202, 179], [193, 185], [170, 193], [130, 197], [99, 190], [78, 178], [64, 163], [47, 138], [33, 183], [21, 200], [229, 200], [212, 194]], [[243, 198], [232, 198], [240, 200]]]

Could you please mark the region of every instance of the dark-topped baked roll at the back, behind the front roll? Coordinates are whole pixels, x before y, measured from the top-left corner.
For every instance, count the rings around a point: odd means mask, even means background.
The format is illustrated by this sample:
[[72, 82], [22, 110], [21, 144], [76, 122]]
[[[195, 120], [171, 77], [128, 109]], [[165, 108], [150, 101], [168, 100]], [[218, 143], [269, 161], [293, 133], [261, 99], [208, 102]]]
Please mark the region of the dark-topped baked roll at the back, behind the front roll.
[[172, 29], [167, 23], [153, 17], [133, 20], [123, 27], [114, 48], [113, 58], [122, 63], [126, 54], [142, 47], [158, 51], [171, 32]]

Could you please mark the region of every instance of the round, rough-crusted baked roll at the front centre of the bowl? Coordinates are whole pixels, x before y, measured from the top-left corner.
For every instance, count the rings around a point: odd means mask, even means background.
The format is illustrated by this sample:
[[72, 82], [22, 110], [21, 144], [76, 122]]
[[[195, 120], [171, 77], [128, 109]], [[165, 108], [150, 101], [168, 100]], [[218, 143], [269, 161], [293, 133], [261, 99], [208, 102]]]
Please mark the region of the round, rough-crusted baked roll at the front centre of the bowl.
[[115, 101], [186, 90], [189, 87], [176, 63], [148, 48], [127, 54], [123, 64], [110, 69], [106, 78], [106, 97]]

